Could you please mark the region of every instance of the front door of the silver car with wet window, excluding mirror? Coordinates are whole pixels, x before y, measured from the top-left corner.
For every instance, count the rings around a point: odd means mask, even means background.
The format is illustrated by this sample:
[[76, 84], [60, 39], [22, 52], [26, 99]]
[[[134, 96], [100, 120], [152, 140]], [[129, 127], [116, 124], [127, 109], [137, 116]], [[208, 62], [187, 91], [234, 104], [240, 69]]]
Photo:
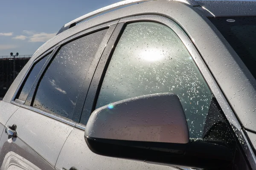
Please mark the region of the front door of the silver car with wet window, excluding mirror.
[[[199, 64], [210, 83], [199, 71]], [[120, 20], [93, 76], [80, 124], [65, 142], [56, 170], [175, 169], [100, 156], [90, 151], [84, 140], [86, 123], [95, 108], [134, 96], [165, 92], [180, 98], [190, 139], [225, 142], [235, 155], [237, 137], [211, 91], [214, 79], [206, 69], [186, 34], [172, 20], [151, 15]], [[218, 88], [214, 89], [216, 94]], [[232, 168], [230, 165], [224, 169]]]

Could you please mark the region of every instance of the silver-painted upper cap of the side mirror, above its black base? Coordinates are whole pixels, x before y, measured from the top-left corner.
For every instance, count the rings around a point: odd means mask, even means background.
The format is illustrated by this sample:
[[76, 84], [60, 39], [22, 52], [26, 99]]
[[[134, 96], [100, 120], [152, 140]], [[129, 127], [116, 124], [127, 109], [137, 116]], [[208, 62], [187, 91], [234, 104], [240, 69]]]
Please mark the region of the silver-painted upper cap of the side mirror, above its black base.
[[84, 136], [145, 142], [189, 142], [188, 125], [180, 99], [171, 93], [133, 97], [98, 108], [90, 116]]

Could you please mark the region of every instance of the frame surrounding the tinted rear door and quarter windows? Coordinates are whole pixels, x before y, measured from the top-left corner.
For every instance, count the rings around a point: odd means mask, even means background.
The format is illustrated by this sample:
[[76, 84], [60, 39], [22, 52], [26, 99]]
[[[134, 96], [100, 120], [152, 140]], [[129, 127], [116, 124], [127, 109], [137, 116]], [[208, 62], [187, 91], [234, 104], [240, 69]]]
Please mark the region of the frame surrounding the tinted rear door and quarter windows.
[[[31, 106], [32, 104], [32, 99], [35, 97], [35, 89], [38, 88], [39, 86], [39, 80], [42, 78], [42, 75], [43, 73], [46, 71], [46, 69], [49, 67], [51, 61], [52, 61], [52, 58], [55, 57], [55, 55], [57, 54], [58, 50], [60, 49], [61, 46], [69, 43], [69, 42], [72, 42], [73, 40], [76, 40], [76, 39], [79, 39], [81, 37], [84, 37], [88, 34], [92, 34], [94, 32], [97, 32], [97, 31], [101, 31], [101, 30], [104, 30], [104, 29], [108, 29], [105, 36], [103, 37], [100, 45], [99, 45], [99, 48], [97, 49], [96, 51], [96, 54], [94, 55], [93, 57], [93, 61], [92, 61], [92, 64], [90, 65], [90, 68], [88, 69], [88, 72], [86, 74], [86, 77], [84, 79], [85, 80], [88, 80], [88, 83], [87, 83], [87, 86], [89, 87], [90, 85], [90, 81], [93, 77], [93, 74], [96, 70], [96, 66], [98, 65], [98, 62], [102, 56], [102, 53], [105, 51], [105, 47], [107, 46], [108, 44], [108, 41], [109, 39], [111, 38], [111, 35], [113, 33], [113, 31], [115, 30], [116, 26], [117, 26], [117, 23], [118, 23], [118, 20], [116, 21], [113, 21], [113, 22], [109, 22], [109, 23], [105, 23], [105, 24], [102, 24], [100, 26], [95, 26], [93, 28], [89, 28], [87, 30], [84, 30], [84, 31], [81, 31], [80, 33], [77, 33], [77, 34], [74, 34], [73, 36], [65, 39], [65, 40], [62, 40], [61, 42], [59, 42], [58, 44], [54, 45], [52, 48], [50, 48], [49, 50], [47, 50], [46, 52], [44, 52], [44, 54], [40, 55], [38, 58], [36, 58], [32, 64], [30, 65], [29, 69], [27, 70], [25, 76], [23, 77], [22, 81], [20, 82], [20, 85], [18, 86], [17, 90], [15, 91], [15, 94], [14, 96], [12, 97], [12, 101], [11, 103], [14, 104], [14, 105], [17, 105], [17, 106], [20, 106], [22, 108], [26, 108], [26, 109], [29, 109], [31, 111], [34, 111], [36, 113], [40, 113], [40, 114], [43, 114], [45, 116], [48, 116], [52, 119], [55, 119], [55, 120], [58, 120], [60, 122], [64, 122], [68, 125], [71, 125], [71, 126], [76, 126], [78, 123], [77, 122], [74, 122], [73, 120], [71, 119], [67, 119], [65, 117], [62, 117], [62, 116], [59, 116], [59, 115], [56, 115], [56, 114], [53, 114], [53, 113], [49, 113], [49, 112], [46, 112], [46, 111], [42, 111], [38, 108], [34, 108], [33, 106]], [[52, 52], [51, 52], [52, 51]], [[25, 101], [25, 103], [23, 104], [23, 102], [21, 101], [18, 101], [17, 100], [17, 97], [18, 97], [18, 94], [19, 94], [19, 91], [22, 90], [22, 87], [23, 87], [23, 84], [25, 83], [27, 77], [29, 76], [29, 73], [32, 71], [32, 68], [33, 66], [38, 62], [38, 60], [40, 60], [42, 57], [45, 57], [47, 54], [49, 54], [51, 52], [51, 55], [49, 56], [49, 58], [47, 59], [47, 61], [45, 62], [43, 68], [41, 69], [40, 73], [38, 73], [38, 76], [32, 86], [32, 89], [31, 91], [29, 92], [29, 95]], [[83, 82], [84, 83], [84, 82]], [[84, 85], [84, 84], [83, 84]], [[87, 94], [87, 92], [85, 92]], [[84, 99], [81, 99], [83, 100], [80, 104], [80, 106], [84, 105], [84, 101], [85, 101], [85, 97], [82, 97]], [[79, 109], [77, 109], [77, 107], [75, 108], [75, 112], [78, 111]], [[80, 109], [80, 115], [81, 115], [81, 112], [82, 112], [82, 108]]]

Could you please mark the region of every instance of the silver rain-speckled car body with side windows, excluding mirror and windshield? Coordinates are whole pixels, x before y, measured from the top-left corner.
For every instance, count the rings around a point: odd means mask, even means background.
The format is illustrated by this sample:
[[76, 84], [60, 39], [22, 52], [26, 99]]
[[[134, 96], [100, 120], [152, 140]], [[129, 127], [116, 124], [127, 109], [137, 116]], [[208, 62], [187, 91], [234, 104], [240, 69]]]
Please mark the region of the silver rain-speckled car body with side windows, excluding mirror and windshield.
[[0, 102], [0, 169], [176, 169], [101, 156], [84, 139], [96, 108], [162, 92], [177, 92], [190, 138], [225, 124], [212, 138], [233, 150], [226, 169], [256, 169], [255, 73], [214, 24], [253, 16], [256, 2], [131, 0], [67, 23]]

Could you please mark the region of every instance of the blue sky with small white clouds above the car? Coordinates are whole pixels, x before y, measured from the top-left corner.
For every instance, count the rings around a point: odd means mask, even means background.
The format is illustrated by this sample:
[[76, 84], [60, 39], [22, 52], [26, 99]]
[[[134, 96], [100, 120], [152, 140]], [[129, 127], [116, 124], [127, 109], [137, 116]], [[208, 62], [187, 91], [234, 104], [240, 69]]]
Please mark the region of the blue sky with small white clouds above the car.
[[71, 20], [120, 0], [2, 0], [0, 56], [34, 54]]

